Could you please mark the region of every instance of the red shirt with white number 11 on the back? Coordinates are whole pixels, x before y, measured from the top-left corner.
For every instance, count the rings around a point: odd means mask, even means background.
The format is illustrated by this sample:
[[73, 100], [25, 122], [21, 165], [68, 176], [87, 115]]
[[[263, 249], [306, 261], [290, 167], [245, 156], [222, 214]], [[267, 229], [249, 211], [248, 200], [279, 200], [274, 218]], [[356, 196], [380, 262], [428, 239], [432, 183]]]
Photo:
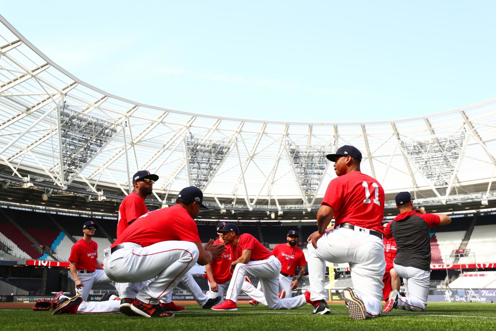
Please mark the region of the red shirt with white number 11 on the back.
[[334, 208], [335, 226], [350, 223], [383, 233], [384, 190], [372, 177], [353, 171], [334, 178], [322, 204]]

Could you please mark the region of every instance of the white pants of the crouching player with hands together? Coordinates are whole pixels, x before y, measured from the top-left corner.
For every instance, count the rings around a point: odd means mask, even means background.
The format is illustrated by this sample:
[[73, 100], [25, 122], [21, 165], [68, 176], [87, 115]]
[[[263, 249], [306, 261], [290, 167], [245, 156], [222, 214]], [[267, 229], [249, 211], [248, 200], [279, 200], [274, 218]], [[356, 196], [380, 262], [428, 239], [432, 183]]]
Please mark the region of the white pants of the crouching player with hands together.
[[117, 282], [155, 280], [140, 289], [136, 299], [158, 304], [181, 281], [181, 277], [198, 260], [198, 248], [187, 241], [163, 241], [147, 247], [124, 243], [124, 248], [104, 251], [105, 272]]

